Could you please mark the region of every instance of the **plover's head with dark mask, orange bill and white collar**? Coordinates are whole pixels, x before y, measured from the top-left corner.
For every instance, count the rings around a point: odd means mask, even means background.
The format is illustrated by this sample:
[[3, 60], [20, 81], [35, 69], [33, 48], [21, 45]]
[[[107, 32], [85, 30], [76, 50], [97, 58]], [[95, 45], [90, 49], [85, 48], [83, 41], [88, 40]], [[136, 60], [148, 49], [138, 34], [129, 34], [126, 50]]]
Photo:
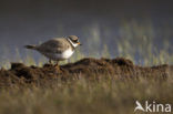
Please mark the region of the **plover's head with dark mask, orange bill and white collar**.
[[82, 45], [79, 42], [79, 38], [77, 35], [69, 35], [67, 39], [72, 44], [73, 48], [77, 48], [78, 45]]

